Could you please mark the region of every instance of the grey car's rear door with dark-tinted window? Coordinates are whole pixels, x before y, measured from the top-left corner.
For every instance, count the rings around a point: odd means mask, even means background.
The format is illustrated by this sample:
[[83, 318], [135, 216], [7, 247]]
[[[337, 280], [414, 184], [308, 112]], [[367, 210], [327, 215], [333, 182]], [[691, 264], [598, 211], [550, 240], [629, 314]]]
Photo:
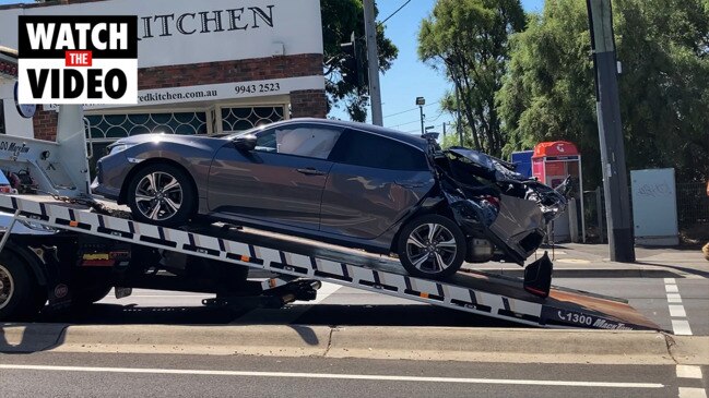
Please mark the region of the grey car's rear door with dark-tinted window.
[[330, 159], [334, 165], [322, 193], [323, 232], [375, 239], [435, 185], [423, 150], [375, 133], [346, 130]]

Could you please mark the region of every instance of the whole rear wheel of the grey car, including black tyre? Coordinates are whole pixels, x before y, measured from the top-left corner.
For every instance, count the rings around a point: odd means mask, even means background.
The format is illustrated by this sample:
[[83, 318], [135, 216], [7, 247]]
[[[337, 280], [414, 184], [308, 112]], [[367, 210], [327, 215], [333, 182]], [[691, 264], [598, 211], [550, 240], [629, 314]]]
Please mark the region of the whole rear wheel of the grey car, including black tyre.
[[465, 258], [465, 234], [440, 215], [417, 217], [399, 234], [399, 261], [413, 276], [440, 279], [460, 269]]

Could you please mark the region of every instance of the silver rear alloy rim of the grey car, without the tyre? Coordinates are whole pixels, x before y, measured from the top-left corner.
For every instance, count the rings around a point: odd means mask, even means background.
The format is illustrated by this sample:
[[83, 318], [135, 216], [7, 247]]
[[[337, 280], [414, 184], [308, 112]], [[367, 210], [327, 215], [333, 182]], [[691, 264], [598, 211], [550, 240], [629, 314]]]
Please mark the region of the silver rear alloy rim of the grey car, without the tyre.
[[450, 267], [458, 254], [453, 233], [440, 224], [423, 224], [406, 239], [406, 255], [416, 269], [439, 274]]

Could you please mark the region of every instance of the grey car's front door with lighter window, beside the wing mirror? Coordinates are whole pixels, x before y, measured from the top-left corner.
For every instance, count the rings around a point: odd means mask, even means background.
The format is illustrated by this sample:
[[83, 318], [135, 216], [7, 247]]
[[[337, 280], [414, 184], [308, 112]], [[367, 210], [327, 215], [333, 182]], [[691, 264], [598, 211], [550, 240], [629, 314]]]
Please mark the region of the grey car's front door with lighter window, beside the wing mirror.
[[318, 230], [320, 201], [341, 130], [285, 123], [257, 133], [255, 150], [225, 145], [210, 169], [210, 212]]

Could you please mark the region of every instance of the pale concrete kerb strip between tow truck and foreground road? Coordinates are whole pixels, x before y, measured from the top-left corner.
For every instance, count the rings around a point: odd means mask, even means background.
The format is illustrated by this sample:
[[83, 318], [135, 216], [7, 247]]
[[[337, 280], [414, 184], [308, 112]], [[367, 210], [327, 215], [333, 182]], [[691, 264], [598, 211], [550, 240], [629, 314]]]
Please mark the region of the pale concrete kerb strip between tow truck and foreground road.
[[655, 331], [283, 325], [29, 325], [0, 330], [7, 340], [0, 352], [709, 365], [709, 337]]

